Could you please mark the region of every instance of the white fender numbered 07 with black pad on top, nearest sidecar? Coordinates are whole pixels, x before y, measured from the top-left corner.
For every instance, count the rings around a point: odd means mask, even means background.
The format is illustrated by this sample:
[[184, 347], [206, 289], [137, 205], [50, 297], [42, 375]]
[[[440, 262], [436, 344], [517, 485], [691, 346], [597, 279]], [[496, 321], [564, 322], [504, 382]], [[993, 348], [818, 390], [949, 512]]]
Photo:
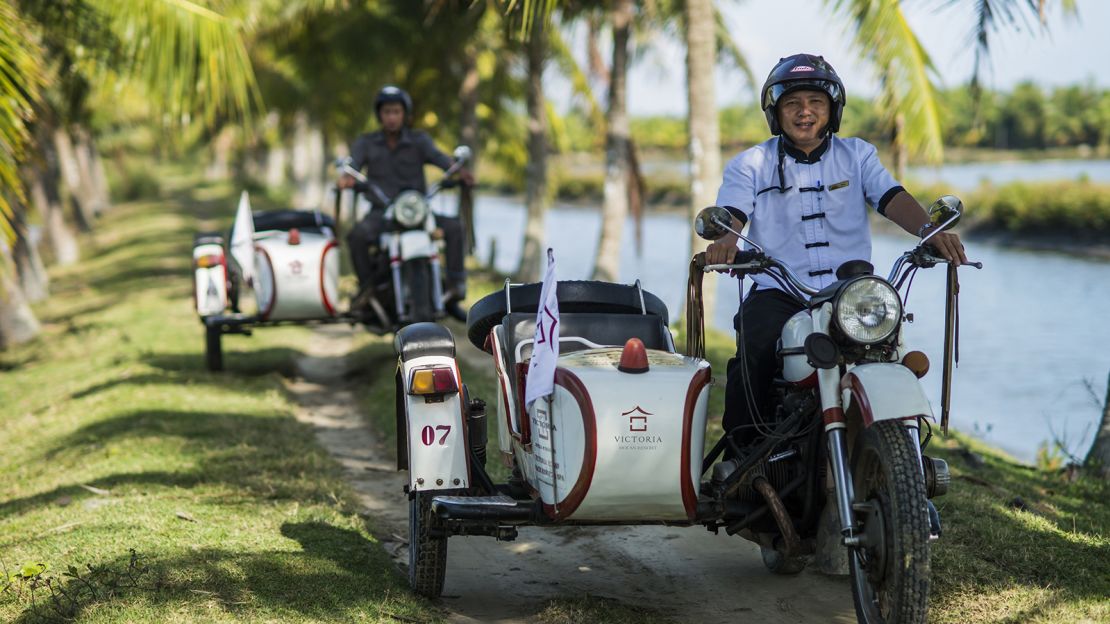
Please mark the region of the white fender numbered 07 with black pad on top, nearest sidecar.
[[[397, 470], [408, 470], [411, 491], [468, 487], [463, 381], [451, 331], [435, 323], [414, 323], [397, 332], [394, 348]], [[413, 372], [428, 368], [451, 370], [460, 390], [440, 395], [412, 394]]]

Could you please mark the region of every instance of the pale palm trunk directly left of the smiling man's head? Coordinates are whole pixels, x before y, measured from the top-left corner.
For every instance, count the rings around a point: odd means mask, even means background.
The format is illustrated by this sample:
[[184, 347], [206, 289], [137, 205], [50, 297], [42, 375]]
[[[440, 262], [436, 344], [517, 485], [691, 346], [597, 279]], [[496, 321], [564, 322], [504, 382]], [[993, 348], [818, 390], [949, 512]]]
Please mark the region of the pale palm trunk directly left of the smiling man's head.
[[[686, 101], [689, 105], [687, 151], [690, 159], [690, 223], [698, 211], [713, 205], [720, 183], [720, 123], [714, 69], [717, 60], [716, 20], [713, 0], [686, 0]], [[694, 228], [690, 251], [705, 250]], [[716, 308], [717, 281], [702, 285], [702, 304], [710, 318]]]

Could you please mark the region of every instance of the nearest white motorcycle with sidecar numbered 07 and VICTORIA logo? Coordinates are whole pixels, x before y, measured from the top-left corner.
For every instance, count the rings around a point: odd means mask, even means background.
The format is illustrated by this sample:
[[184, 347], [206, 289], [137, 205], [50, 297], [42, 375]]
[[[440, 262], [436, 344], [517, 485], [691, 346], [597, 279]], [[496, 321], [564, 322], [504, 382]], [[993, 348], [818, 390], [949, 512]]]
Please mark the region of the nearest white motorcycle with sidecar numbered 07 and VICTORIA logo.
[[[951, 227], [960, 208], [955, 198], [938, 200], [935, 230]], [[717, 239], [730, 231], [730, 217], [709, 208], [695, 228]], [[839, 553], [860, 622], [925, 622], [929, 544], [939, 534], [929, 499], [947, 491], [949, 476], [944, 461], [924, 454], [934, 420], [919, 381], [928, 361], [902, 341], [899, 289], [917, 270], [946, 262], [927, 243], [902, 254], [887, 279], [854, 261], [820, 291], [758, 246], [728, 265], [705, 265], [699, 254], [686, 354], [675, 348], [666, 306], [638, 283], [558, 282], [554, 392], [531, 406], [524, 396], [541, 284], [506, 282], [471, 308], [466, 329], [497, 380], [506, 483], [485, 470], [485, 403], [468, 395], [450, 330], [417, 323], [397, 332], [397, 467], [408, 471], [413, 590], [442, 593], [456, 535], [513, 540], [523, 525], [700, 525], [756, 542], [774, 573], [796, 574], [810, 554]], [[713, 375], [699, 284], [716, 270], [775, 275], [808, 302], [783, 331], [766, 435], [737, 446], [726, 432], [706, 452]]]

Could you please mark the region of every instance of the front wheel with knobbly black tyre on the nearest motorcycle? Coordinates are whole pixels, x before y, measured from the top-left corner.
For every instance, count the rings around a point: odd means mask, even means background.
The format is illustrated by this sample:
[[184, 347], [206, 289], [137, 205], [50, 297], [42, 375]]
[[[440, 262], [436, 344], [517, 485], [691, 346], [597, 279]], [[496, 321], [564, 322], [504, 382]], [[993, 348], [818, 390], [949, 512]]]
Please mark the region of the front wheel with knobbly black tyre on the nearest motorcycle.
[[852, 457], [860, 547], [848, 553], [859, 622], [926, 621], [929, 514], [916, 442], [900, 421], [860, 432]]

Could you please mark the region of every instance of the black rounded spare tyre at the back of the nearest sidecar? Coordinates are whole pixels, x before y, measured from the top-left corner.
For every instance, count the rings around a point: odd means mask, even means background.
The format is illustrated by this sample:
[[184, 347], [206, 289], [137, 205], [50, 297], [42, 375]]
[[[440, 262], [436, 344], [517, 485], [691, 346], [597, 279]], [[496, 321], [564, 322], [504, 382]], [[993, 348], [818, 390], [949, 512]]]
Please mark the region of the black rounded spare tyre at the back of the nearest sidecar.
[[[536, 308], [539, 302], [539, 290], [543, 284], [524, 284], [514, 286], [509, 293], [513, 304], [512, 314], [525, 313], [535, 321]], [[644, 308], [640, 309], [640, 292], [644, 293]], [[667, 305], [658, 296], [640, 291], [635, 284], [614, 284], [610, 282], [561, 281], [558, 283], [558, 308], [562, 314], [589, 312], [598, 314], [619, 314], [622, 318], [632, 315], [657, 316], [663, 325], [667, 325]], [[505, 290], [487, 294], [471, 306], [466, 316], [466, 338], [471, 344], [483, 349], [490, 331], [501, 324], [506, 314]], [[627, 316], [625, 316], [627, 315]], [[656, 321], [656, 322], [659, 322]], [[619, 323], [622, 321], [614, 321]], [[564, 325], [565, 326], [565, 325]], [[569, 330], [567, 330], [569, 331]], [[571, 335], [569, 333], [565, 335]], [[528, 338], [532, 338], [531, 333]], [[596, 342], [596, 341], [595, 341]], [[644, 341], [647, 344], [647, 341]], [[622, 341], [620, 344], [624, 344]], [[654, 349], [649, 346], [649, 349]], [[663, 348], [658, 348], [663, 349]]]

